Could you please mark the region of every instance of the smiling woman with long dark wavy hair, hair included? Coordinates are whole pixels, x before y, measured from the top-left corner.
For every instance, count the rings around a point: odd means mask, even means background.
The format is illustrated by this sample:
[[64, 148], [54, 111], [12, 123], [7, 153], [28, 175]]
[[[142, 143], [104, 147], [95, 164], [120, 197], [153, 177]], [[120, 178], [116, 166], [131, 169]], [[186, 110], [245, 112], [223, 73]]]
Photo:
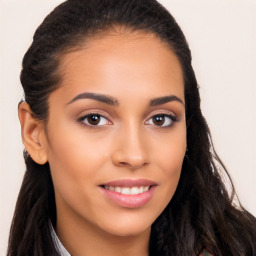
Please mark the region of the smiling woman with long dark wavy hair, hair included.
[[255, 253], [190, 50], [159, 3], [66, 1], [37, 29], [21, 83], [27, 171], [8, 256]]

